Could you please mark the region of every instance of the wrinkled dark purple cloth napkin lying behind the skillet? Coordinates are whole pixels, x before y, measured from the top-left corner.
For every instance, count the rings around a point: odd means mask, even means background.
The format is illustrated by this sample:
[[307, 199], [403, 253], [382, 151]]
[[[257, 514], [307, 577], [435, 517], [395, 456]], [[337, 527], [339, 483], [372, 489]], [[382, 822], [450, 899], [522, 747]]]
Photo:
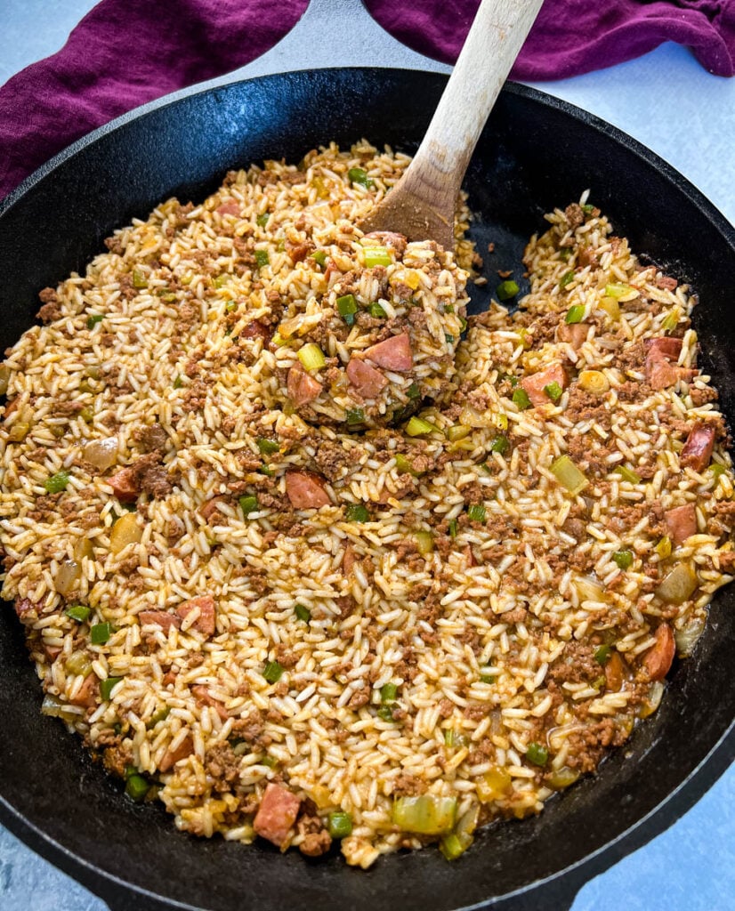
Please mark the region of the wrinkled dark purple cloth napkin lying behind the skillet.
[[[479, 0], [364, 0], [393, 36], [454, 62]], [[133, 107], [242, 67], [309, 0], [102, 0], [66, 45], [0, 88], [0, 199], [75, 139]], [[556, 79], [663, 41], [735, 74], [735, 0], [546, 0], [511, 76]]]

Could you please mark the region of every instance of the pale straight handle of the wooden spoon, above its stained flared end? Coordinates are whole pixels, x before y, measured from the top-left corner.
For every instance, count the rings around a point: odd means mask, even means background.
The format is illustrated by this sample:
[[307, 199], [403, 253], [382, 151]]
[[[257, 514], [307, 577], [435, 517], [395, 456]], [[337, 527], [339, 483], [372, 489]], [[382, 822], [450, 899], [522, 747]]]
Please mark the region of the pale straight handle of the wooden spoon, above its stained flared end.
[[434, 192], [448, 193], [451, 210], [477, 139], [542, 3], [482, 0], [477, 10], [411, 166]]

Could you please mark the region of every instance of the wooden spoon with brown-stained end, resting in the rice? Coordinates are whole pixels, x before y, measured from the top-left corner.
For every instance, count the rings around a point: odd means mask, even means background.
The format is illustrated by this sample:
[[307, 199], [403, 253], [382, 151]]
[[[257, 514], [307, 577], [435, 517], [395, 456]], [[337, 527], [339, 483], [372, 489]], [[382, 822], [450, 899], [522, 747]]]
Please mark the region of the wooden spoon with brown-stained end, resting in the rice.
[[464, 171], [543, 0], [483, 0], [424, 140], [403, 177], [360, 223], [454, 248]]

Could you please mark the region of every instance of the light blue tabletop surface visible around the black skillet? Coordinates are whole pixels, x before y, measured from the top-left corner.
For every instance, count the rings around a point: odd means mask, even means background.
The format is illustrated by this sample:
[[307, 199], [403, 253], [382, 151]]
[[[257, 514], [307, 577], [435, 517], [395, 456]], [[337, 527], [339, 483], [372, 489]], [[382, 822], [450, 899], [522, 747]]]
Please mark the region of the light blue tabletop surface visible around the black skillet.
[[[93, 5], [91, 0], [0, 0], [0, 82], [55, 53]], [[351, 27], [335, 28], [335, 15], [349, 16]], [[319, 0], [307, 16], [301, 26], [319, 36], [317, 46], [287, 37], [260, 61], [218, 81], [311, 65], [447, 69], [387, 38], [356, 0]], [[735, 80], [710, 76], [689, 51], [665, 45], [618, 67], [536, 87], [638, 138], [735, 222]], [[655, 206], [656, 200], [641, 203]], [[104, 909], [0, 827], [0, 911]], [[573, 906], [573, 911], [685, 909], [735, 909], [733, 769], [668, 832], [588, 883]]]

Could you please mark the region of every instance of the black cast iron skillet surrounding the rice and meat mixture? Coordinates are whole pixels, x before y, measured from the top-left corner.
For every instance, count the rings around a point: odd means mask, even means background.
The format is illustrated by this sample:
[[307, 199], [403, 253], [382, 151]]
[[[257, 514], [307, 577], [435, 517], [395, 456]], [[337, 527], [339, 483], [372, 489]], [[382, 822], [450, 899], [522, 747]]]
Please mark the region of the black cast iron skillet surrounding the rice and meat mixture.
[[[330, 139], [412, 151], [444, 81], [392, 69], [290, 73], [157, 102], [97, 130], [0, 207], [2, 347], [34, 322], [41, 288], [83, 269], [103, 238], [145, 218], [158, 200], [201, 200], [228, 169], [295, 162]], [[543, 212], [591, 188], [634, 250], [699, 292], [701, 363], [725, 414], [735, 414], [735, 231], [678, 173], [597, 118], [508, 86], [465, 187], [480, 249], [496, 243], [491, 276], [517, 269], [524, 243], [543, 230]], [[479, 296], [475, 310], [486, 302]], [[8, 607], [0, 621], [0, 821], [114, 911], [562, 908], [589, 877], [674, 822], [728, 766], [733, 665], [735, 591], [726, 589], [694, 656], [675, 666], [660, 710], [597, 779], [578, 782], [536, 818], [485, 830], [454, 864], [430, 849], [385, 857], [362, 873], [336, 855], [311, 862], [267, 844], [191, 838], [162, 809], [129, 803], [76, 736], [40, 715], [40, 687]]]

